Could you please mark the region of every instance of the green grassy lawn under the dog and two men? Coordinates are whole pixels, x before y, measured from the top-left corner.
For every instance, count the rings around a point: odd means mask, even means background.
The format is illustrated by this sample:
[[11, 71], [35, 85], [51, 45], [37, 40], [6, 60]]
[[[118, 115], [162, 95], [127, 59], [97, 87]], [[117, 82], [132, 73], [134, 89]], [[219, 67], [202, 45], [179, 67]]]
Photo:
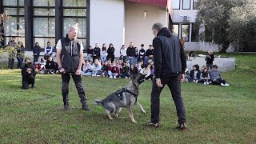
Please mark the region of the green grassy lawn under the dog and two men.
[[60, 75], [36, 77], [34, 90], [21, 89], [20, 70], [0, 70], [1, 143], [256, 143], [256, 54], [228, 54], [237, 68], [223, 73], [228, 87], [182, 83], [189, 130], [177, 126], [174, 102], [167, 88], [161, 95], [161, 128], [150, 121], [151, 82], [141, 87], [138, 101], [147, 114], [134, 106], [136, 124], [123, 109], [110, 121], [94, 99], [126, 86], [128, 79], [83, 77], [90, 112], [80, 110], [74, 82], [70, 81], [71, 110], [62, 111]]

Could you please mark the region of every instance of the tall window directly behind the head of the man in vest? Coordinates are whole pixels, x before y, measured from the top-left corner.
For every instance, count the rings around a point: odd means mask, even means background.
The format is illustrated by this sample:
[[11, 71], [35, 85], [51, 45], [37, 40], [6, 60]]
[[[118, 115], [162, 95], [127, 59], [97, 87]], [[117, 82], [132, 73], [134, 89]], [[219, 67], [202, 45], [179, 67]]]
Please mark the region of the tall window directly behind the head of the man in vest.
[[86, 49], [86, 0], [63, 0], [62, 36], [74, 25], [78, 25], [78, 39]]

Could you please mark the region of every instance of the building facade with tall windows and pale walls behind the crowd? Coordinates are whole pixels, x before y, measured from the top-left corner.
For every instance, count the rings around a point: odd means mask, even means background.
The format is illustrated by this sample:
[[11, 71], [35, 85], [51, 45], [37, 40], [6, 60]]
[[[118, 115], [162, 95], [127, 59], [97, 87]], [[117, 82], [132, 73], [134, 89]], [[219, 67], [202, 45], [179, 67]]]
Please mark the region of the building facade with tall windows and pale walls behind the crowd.
[[25, 42], [26, 50], [34, 43], [52, 46], [66, 35], [69, 26], [78, 24], [78, 38], [85, 47], [98, 43], [114, 44], [118, 57], [123, 44], [140, 48], [152, 43], [151, 27], [161, 22], [179, 38], [185, 38], [186, 50], [218, 50], [198, 42], [194, 29], [196, 0], [0, 0], [0, 13], [8, 11], [4, 22], [3, 45], [15, 36]]

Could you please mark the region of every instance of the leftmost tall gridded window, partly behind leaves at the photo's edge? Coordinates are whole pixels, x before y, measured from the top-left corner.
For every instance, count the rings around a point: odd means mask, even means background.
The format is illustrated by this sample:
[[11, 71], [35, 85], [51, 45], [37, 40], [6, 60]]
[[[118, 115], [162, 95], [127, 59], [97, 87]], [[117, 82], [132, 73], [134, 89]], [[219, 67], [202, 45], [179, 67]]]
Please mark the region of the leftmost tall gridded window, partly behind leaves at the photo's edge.
[[11, 37], [18, 37], [17, 42], [25, 43], [24, 0], [5, 0], [2, 4], [3, 10], [11, 16], [3, 23], [3, 33], [6, 35], [4, 45]]

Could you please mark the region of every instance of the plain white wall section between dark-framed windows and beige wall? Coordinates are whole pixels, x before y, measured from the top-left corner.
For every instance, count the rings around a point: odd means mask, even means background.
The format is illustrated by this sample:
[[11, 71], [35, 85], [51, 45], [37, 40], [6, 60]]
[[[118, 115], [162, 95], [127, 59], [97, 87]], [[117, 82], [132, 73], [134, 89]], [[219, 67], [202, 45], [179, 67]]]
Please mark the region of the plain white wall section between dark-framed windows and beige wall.
[[90, 1], [90, 45], [114, 44], [115, 56], [124, 43], [125, 6], [123, 0]]

